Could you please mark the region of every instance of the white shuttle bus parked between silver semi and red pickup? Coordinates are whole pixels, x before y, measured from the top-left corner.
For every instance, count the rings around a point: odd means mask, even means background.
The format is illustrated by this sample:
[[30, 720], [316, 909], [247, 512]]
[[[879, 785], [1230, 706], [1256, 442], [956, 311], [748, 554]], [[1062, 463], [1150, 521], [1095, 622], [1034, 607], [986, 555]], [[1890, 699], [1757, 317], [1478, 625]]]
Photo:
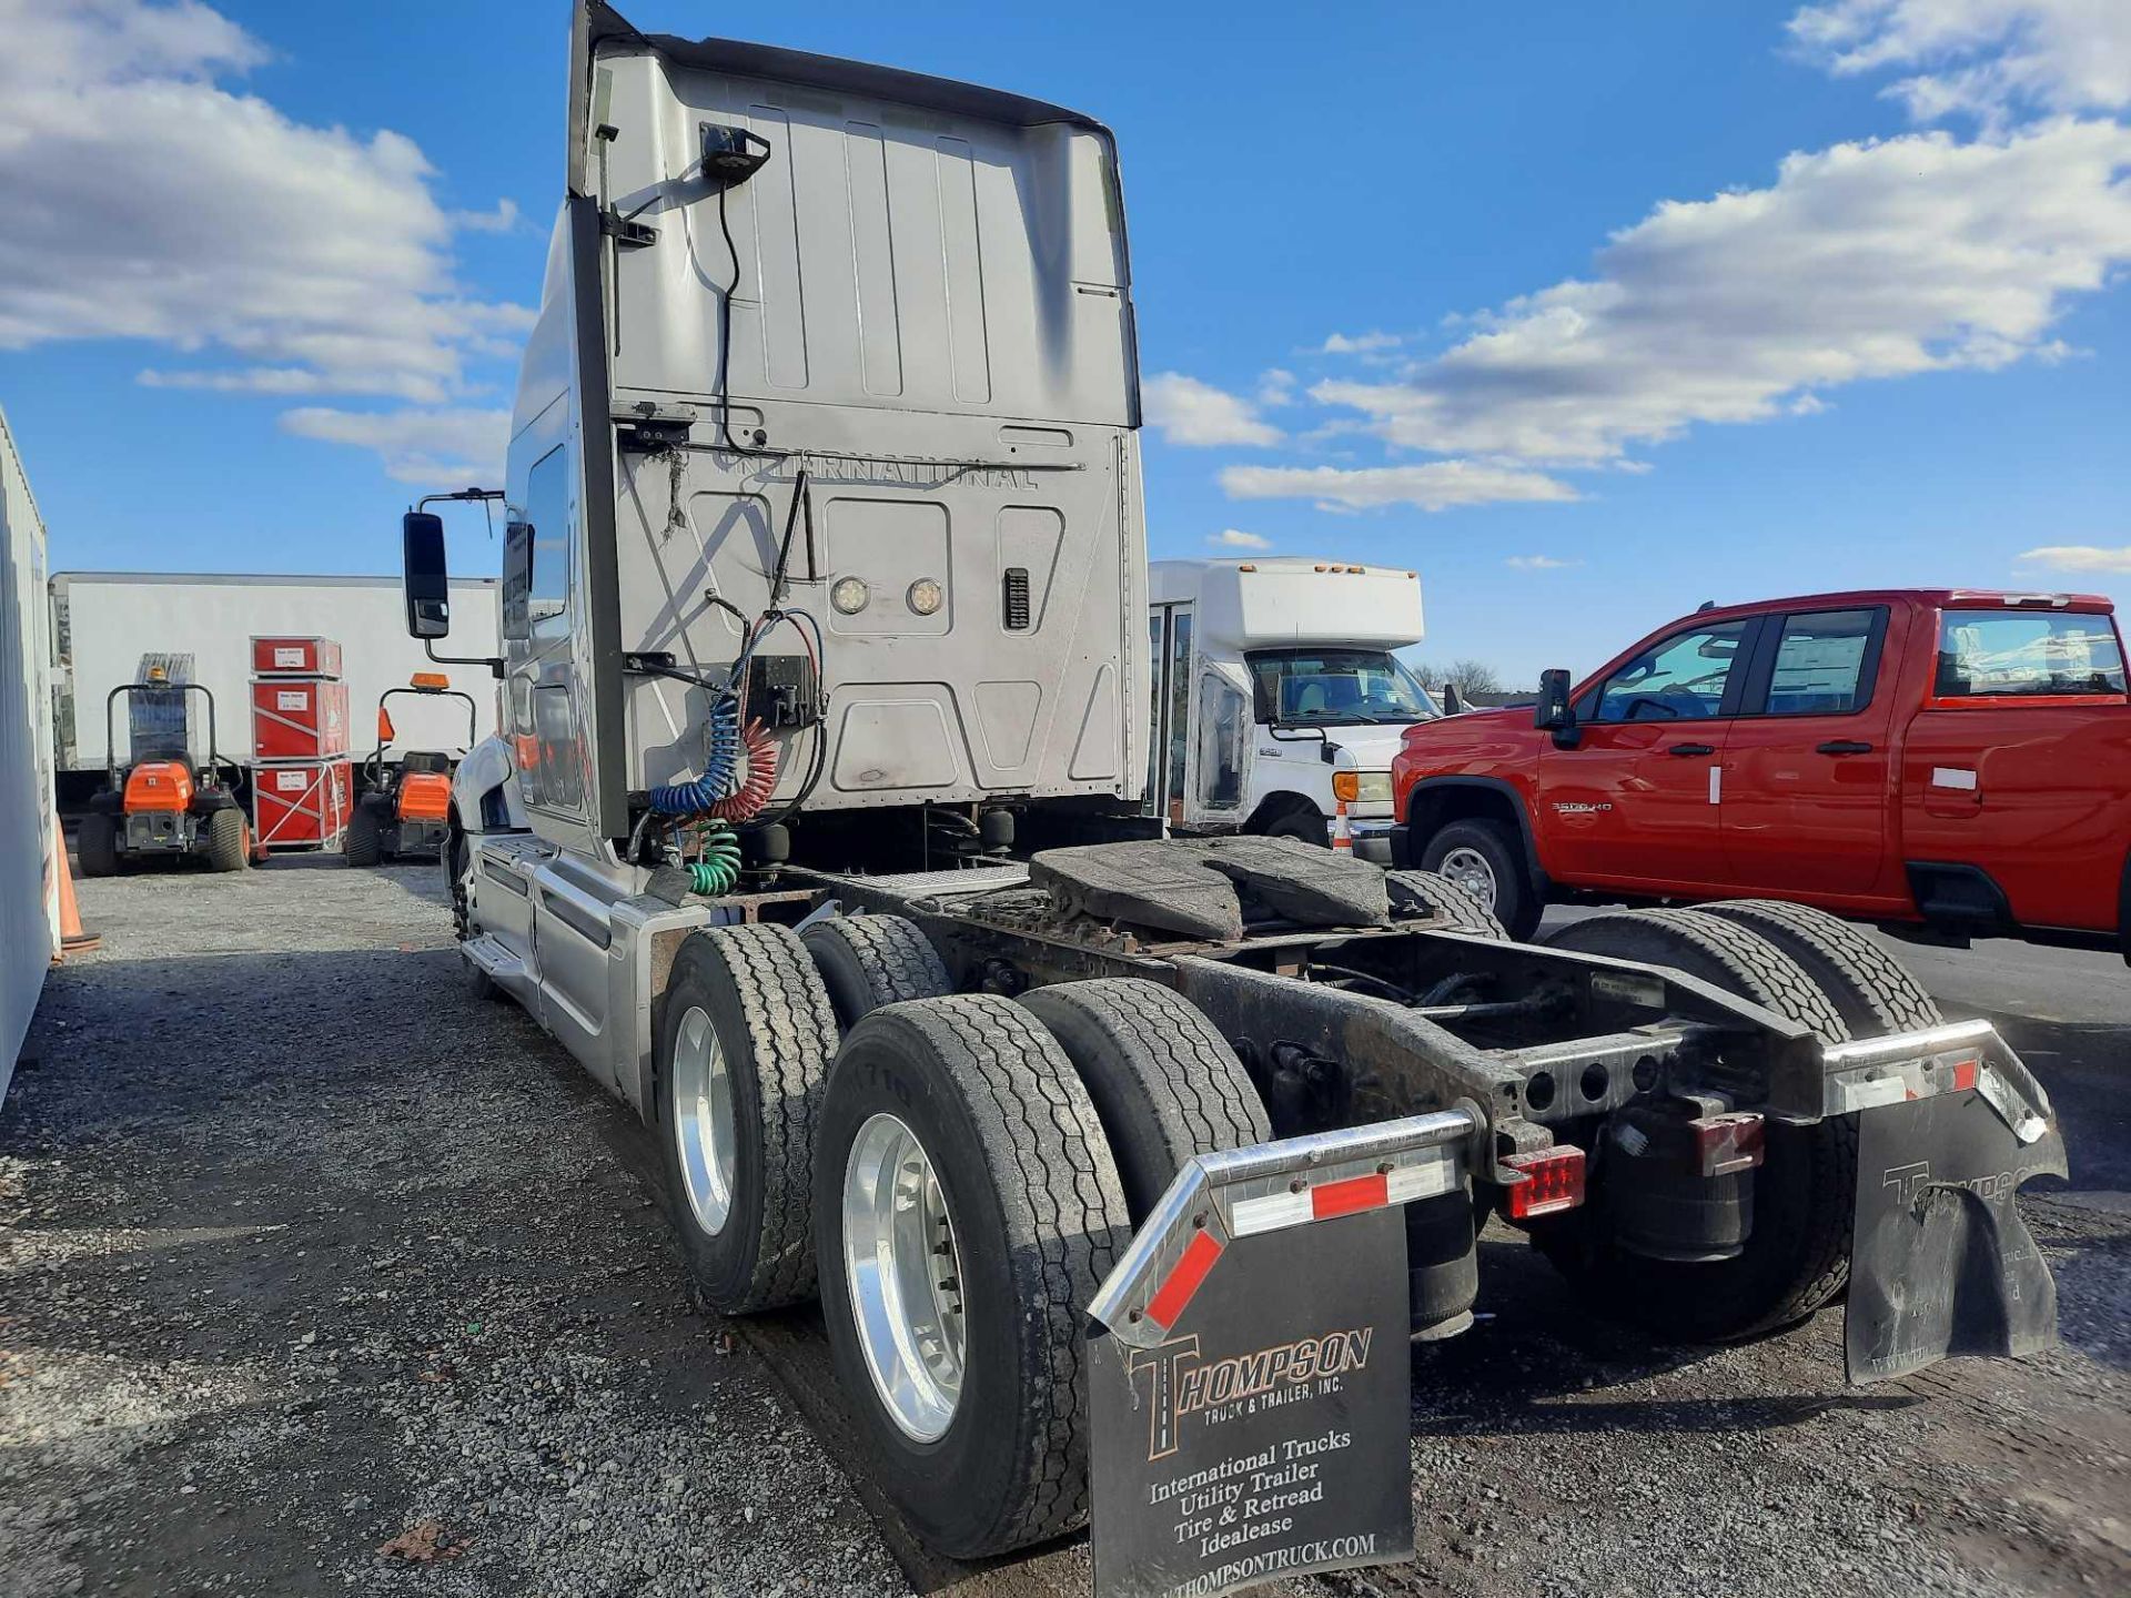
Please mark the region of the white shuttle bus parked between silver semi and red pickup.
[[1178, 833], [1328, 842], [1392, 863], [1392, 756], [1443, 712], [1392, 650], [1421, 641], [1419, 573], [1347, 560], [1155, 560], [1151, 803]]

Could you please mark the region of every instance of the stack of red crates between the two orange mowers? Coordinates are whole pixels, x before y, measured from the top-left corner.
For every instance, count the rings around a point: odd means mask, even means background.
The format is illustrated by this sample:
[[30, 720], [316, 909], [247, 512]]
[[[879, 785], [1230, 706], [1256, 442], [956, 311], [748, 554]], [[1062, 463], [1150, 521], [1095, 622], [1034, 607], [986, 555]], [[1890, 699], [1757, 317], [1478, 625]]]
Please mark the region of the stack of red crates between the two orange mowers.
[[354, 773], [347, 684], [330, 637], [251, 639], [251, 835], [260, 848], [339, 848]]

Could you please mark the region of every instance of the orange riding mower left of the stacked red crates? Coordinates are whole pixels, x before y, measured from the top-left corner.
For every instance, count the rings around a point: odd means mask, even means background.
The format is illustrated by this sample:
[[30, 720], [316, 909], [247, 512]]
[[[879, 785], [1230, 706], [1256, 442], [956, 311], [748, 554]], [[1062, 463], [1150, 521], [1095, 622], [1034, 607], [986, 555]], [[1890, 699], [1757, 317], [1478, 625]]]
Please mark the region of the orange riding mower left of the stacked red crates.
[[[132, 720], [132, 763], [119, 765], [113, 712], [121, 697], [162, 695], [177, 705], [177, 727]], [[170, 695], [177, 695], [173, 701]], [[192, 759], [185, 695], [207, 701], [207, 761]], [[162, 718], [168, 722], [168, 718]], [[209, 871], [241, 871], [251, 859], [251, 822], [237, 803], [241, 771], [215, 752], [215, 697], [198, 682], [121, 682], [104, 697], [107, 780], [90, 799], [75, 848], [81, 876], [117, 876], [121, 865], [156, 859], [205, 861]], [[224, 776], [224, 769], [228, 776]]]

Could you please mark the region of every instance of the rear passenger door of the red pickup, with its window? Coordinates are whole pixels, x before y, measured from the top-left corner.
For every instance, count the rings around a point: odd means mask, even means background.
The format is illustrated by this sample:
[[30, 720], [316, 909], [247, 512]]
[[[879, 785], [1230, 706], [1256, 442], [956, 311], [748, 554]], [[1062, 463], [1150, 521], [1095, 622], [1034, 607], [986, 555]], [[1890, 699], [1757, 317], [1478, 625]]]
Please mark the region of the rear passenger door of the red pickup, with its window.
[[1769, 616], [1724, 744], [1724, 876], [1747, 893], [1901, 897], [1888, 861], [1903, 639], [1886, 605]]

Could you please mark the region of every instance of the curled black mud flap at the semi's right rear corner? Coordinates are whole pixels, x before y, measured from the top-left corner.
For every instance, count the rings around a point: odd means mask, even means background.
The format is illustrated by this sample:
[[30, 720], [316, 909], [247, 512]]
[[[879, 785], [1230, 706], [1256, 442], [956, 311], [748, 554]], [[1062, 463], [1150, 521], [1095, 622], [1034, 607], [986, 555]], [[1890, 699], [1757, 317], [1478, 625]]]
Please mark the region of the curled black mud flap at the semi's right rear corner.
[[1852, 1383], [2056, 1342], [2056, 1283], [2014, 1195], [2031, 1176], [2065, 1174], [2065, 1140], [1999, 1080], [1988, 1087], [1858, 1114]]

